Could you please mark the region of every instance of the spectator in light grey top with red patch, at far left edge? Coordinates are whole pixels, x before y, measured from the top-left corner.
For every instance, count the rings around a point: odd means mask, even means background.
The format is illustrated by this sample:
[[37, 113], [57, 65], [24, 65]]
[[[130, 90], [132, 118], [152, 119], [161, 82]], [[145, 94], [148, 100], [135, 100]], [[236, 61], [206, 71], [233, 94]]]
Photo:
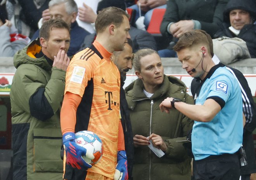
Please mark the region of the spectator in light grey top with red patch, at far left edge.
[[18, 34], [17, 29], [7, 19], [5, 6], [0, 6], [0, 57], [13, 57], [30, 42], [27, 36]]

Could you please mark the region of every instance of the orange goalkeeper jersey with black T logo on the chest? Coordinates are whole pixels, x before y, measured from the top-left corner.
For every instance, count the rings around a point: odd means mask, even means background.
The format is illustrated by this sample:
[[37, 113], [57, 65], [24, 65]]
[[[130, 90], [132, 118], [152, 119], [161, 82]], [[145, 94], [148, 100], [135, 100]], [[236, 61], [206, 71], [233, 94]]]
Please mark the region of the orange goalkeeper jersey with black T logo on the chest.
[[82, 98], [76, 112], [75, 132], [90, 130], [103, 142], [102, 159], [88, 171], [109, 178], [113, 178], [116, 166], [120, 118], [120, 74], [110, 60], [111, 55], [97, 41], [74, 55], [67, 69], [65, 88], [65, 94], [70, 92]]

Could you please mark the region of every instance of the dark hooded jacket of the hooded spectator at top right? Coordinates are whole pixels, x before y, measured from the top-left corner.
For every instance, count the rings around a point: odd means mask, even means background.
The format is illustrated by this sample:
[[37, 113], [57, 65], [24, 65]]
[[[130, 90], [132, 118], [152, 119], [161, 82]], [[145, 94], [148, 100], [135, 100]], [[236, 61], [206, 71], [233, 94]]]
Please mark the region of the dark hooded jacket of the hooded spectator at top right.
[[[252, 18], [251, 24], [246, 24], [236, 36], [228, 27], [230, 27], [229, 12], [234, 9], [242, 9], [250, 13]], [[230, 0], [223, 12], [223, 23], [220, 24], [220, 30], [214, 35], [214, 38], [226, 36], [229, 38], [240, 38], [246, 41], [247, 48], [252, 58], [256, 58], [256, 25], [253, 22], [256, 19], [256, 2], [255, 0]]]

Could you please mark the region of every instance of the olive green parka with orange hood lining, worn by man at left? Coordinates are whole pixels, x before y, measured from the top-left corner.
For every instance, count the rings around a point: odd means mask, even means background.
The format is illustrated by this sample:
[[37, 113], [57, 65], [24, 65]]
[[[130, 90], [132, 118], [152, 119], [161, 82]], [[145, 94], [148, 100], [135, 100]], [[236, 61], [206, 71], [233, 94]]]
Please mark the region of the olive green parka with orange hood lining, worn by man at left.
[[[14, 56], [17, 70], [10, 91], [14, 180], [62, 180], [60, 110], [66, 71], [52, 67], [45, 56], [35, 58], [40, 50], [35, 40]], [[47, 105], [34, 112], [45, 115], [41, 120], [31, 115], [30, 104], [39, 89], [47, 99]], [[38, 98], [33, 104], [40, 102]], [[48, 112], [52, 113], [47, 116]]]

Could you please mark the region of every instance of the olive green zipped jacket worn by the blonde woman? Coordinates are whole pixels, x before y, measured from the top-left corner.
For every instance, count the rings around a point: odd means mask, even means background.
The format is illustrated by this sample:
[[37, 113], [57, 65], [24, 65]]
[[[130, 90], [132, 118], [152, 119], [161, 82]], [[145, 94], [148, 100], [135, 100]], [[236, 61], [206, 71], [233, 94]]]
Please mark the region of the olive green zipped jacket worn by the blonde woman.
[[145, 137], [158, 134], [166, 143], [167, 150], [163, 157], [158, 158], [147, 146], [135, 147], [133, 180], [190, 180], [191, 159], [182, 142], [177, 141], [186, 140], [194, 122], [175, 109], [169, 114], [162, 113], [159, 104], [170, 96], [193, 104], [192, 97], [186, 93], [187, 88], [182, 81], [166, 75], [151, 98], [147, 98], [143, 90], [141, 79], [125, 89], [133, 134]]

